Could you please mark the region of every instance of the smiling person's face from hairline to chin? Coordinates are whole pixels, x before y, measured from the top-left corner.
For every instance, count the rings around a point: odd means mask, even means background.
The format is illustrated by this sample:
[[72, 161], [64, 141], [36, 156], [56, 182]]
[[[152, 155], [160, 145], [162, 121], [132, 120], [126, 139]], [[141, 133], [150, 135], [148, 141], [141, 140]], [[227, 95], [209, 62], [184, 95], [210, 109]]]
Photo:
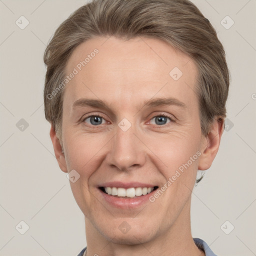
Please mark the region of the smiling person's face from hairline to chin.
[[79, 176], [70, 185], [85, 225], [126, 244], [180, 227], [196, 171], [215, 156], [200, 130], [194, 62], [158, 39], [110, 37], [76, 47], [66, 74], [74, 68], [57, 159]]

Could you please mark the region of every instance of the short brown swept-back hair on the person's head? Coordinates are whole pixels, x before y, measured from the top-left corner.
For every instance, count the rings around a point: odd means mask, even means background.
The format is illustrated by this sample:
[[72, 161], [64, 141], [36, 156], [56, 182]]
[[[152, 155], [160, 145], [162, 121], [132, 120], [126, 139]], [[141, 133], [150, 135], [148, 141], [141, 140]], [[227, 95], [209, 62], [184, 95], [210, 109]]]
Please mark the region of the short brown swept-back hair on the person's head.
[[229, 71], [215, 29], [188, 0], [93, 0], [74, 11], [55, 31], [44, 52], [47, 66], [44, 112], [61, 143], [63, 81], [72, 51], [93, 36], [158, 38], [188, 54], [197, 66], [196, 94], [203, 135], [226, 116]]

